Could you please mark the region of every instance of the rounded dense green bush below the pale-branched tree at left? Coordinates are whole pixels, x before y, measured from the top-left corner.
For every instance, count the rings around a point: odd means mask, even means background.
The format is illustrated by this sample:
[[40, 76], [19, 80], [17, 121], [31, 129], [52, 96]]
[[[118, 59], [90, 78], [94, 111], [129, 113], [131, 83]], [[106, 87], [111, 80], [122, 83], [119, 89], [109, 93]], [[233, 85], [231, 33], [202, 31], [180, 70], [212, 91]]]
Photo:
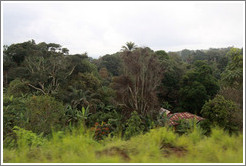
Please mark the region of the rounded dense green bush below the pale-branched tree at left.
[[64, 126], [62, 103], [50, 96], [33, 96], [27, 103], [29, 123], [27, 129], [35, 133], [50, 134], [53, 129]]

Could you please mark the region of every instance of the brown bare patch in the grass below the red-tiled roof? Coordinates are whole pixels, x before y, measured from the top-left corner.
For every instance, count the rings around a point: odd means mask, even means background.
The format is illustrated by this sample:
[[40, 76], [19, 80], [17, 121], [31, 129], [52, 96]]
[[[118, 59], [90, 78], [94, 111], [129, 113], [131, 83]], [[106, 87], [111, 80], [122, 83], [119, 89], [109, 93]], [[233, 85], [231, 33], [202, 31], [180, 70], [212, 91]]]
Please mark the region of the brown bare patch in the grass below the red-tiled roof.
[[183, 157], [186, 155], [187, 150], [184, 147], [175, 147], [172, 144], [163, 144], [160, 148], [165, 157], [175, 155], [177, 157]]

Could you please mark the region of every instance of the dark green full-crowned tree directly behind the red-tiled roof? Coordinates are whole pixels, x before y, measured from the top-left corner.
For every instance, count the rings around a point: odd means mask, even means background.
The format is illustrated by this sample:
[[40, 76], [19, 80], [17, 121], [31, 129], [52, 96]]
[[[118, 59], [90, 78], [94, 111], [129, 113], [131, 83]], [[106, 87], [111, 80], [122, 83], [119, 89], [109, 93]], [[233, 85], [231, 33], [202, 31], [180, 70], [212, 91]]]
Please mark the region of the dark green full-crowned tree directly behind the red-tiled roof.
[[206, 61], [196, 61], [182, 80], [180, 104], [184, 111], [200, 114], [203, 104], [213, 98], [219, 85]]

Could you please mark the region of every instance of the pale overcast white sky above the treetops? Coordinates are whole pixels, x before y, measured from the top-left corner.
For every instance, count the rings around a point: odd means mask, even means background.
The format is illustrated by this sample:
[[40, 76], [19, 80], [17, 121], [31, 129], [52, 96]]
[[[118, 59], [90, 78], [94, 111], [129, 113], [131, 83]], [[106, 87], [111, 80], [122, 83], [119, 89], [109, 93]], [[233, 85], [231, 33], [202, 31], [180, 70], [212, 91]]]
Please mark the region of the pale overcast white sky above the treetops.
[[243, 47], [245, 2], [1, 2], [3, 44], [57, 43], [98, 58], [126, 42], [153, 50]]

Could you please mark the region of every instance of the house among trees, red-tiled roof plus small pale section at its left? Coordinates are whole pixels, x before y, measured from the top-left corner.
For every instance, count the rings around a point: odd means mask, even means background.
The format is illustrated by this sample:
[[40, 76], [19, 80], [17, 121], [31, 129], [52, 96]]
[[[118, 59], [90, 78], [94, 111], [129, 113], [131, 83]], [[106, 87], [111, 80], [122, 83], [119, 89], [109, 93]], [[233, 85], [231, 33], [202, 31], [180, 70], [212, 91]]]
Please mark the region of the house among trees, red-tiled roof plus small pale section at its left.
[[197, 123], [204, 120], [204, 118], [189, 112], [171, 113], [171, 111], [164, 108], [161, 108], [160, 113], [165, 114], [168, 118], [168, 124], [174, 127], [179, 125], [180, 120], [196, 120]]

